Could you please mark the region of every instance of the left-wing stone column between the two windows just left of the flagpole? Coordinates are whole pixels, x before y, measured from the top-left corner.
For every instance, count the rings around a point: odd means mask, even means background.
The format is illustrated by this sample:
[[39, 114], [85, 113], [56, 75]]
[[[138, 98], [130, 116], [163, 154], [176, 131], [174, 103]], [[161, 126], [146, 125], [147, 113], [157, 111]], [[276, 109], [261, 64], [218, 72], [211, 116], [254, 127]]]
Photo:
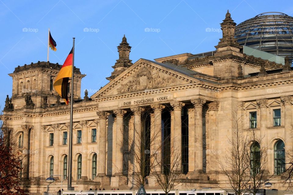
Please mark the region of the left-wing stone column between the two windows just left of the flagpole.
[[[60, 124], [53, 124], [54, 128], [54, 163], [53, 163], [53, 175], [59, 174], [59, 145], [60, 145]], [[60, 176], [53, 176], [54, 179], [59, 180]]]

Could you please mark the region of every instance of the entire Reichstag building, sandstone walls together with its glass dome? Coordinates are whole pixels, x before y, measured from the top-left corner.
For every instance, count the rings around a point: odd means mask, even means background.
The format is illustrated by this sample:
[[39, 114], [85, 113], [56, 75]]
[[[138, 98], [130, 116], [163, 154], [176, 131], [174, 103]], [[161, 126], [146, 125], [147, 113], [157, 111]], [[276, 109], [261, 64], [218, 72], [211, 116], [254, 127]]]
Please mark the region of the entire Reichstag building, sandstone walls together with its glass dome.
[[[293, 147], [293, 17], [262, 13], [238, 26], [229, 12], [223, 19], [215, 51], [201, 54], [133, 63], [131, 37], [124, 36], [109, 82], [91, 97], [81, 91], [85, 75], [74, 69], [69, 90], [74, 91], [76, 190], [131, 189], [142, 168], [137, 157], [147, 162], [146, 189], [161, 188], [152, 177], [152, 162], [161, 161], [157, 170], [168, 171], [175, 157], [179, 189], [224, 186], [219, 161], [229, 154], [235, 116], [244, 131], [254, 129], [263, 138], [254, 147], [271, 151], [265, 174], [272, 175], [272, 188], [284, 189], [286, 165], [280, 162], [289, 161], [285, 152]], [[9, 74], [12, 97], [3, 112], [19, 150], [30, 151], [21, 177], [37, 178], [28, 185], [34, 193], [47, 191], [49, 176], [56, 180], [49, 192], [58, 191], [61, 181], [67, 189], [70, 106], [53, 89], [60, 68], [39, 61]]]

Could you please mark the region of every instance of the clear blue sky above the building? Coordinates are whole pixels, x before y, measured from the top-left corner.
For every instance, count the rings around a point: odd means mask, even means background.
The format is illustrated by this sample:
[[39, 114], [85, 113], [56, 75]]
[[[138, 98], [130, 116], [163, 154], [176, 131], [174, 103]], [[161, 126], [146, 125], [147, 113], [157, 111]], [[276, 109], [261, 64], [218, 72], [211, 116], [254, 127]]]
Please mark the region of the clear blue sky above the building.
[[[81, 84], [83, 97], [85, 89], [92, 95], [107, 84], [105, 77], [113, 71], [111, 66], [118, 59], [116, 47], [123, 34], [132, 46], [133, 62], [212, 51], [221, 38], [219, 23], [227, 9], [236, 23], [262, 12], [293, 14], [290, 1], [275, 0], [0, 0], [0, 104], [4, 105], [6, 95], [12, 94], [8, 74], [15, 67], [47, 61], [48, 28], [57, 43], [57, 51], [50, 50], [50, 62], [63, 64], [72, 47], [72, 37], [76, 38], [75, 66], [87, 75]], [[91, 32], [85, 32], [85, 28]]]

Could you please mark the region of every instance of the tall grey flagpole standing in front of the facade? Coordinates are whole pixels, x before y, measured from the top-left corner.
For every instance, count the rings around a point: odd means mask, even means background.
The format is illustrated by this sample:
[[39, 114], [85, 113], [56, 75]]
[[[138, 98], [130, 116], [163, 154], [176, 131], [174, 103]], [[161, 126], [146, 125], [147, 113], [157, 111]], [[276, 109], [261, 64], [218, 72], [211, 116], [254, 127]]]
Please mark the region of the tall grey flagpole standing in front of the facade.
[[71, 186], [72, 180], [72, 126], [73, 126], [73, 72], [74, 72], [74, 40], [73, 37], [73, 52], [72, 52], [72, 76], [71, 76], [71, 96], [70, 96], [70, 131], [69, 131], [69, 151], [68, 151], [68, 186], [67, 190], [74, 190]]

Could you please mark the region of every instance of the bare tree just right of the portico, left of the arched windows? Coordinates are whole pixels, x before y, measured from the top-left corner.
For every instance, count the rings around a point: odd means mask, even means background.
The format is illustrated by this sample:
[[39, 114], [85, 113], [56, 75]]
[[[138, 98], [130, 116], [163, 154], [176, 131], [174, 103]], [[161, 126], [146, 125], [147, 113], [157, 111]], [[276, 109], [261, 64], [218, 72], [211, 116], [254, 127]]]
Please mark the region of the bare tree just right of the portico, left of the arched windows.
[[241, 194], [246, 191], [248, 183], [250, 161], [247, 160], [249, 151], [249, 137], [243, 129], [241, 123], [242, 116], [234, 112], [232, 117], [232, 135], [228, 137], [230, 145], [225, 155], [225, 160], [219, 159], [220, 173], [226, 177], [226, 186], [217, 187], [226, 190], [232, 189], [236, 194]]

